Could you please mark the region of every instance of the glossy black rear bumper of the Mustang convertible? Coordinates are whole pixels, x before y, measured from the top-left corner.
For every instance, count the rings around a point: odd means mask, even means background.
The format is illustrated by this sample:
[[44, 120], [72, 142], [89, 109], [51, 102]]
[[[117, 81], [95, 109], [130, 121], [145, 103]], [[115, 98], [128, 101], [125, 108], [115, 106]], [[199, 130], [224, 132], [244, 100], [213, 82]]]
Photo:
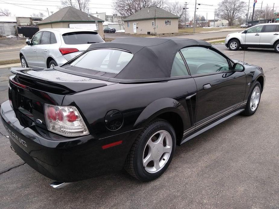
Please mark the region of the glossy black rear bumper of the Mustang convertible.
[[[59, 182], [74, 182], [121, 170], [133, 143], [131, 139], [139, 131], [103, 139], [94, 139], [91, 135], [65, 138], [40, 129], [34, 123], [25, 126], [22, 120], [28, 119], [18, 119], [18, 112], [9, 101], [3, 102], [0, 108], [11, 145], [33, 169]], [[103, 145], [119, 140], [123, 140], [122, 144], [102, 149]]]

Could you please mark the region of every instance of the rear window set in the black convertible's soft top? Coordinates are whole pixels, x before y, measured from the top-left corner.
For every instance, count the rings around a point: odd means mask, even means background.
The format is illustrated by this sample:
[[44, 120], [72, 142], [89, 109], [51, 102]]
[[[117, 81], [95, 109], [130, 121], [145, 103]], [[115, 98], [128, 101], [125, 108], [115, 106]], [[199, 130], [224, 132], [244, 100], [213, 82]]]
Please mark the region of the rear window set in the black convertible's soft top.
[[85, 52], [69, 64], [75, 67], [117, 74], [132, 57], [132, 53], [118, 49], [94, 49]]

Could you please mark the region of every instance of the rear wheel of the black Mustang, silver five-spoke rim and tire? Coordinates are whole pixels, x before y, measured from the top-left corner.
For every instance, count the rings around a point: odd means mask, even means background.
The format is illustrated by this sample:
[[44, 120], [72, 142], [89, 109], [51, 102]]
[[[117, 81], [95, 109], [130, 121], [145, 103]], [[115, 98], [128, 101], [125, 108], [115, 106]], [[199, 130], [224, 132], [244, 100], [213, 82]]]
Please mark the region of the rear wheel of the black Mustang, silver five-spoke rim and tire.
[[124, 168], [141, 181], [158, 178], [172, 161], [176, 146], [175, 131], [166, 120], [147, 124], [135, 140]]

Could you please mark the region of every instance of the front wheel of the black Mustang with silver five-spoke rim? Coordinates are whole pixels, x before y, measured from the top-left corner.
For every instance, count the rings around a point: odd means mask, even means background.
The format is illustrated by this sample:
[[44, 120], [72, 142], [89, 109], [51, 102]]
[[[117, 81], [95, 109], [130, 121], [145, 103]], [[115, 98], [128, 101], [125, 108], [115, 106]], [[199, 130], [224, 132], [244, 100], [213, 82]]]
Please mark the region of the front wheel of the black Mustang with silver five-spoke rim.
[[261, 84], [258, 81], [255, 81], [252, 91], [248, 97], [246, 108], [242, 112], [243, 115], [250, 116], [257, 111], [261, 100], [261, 89]]

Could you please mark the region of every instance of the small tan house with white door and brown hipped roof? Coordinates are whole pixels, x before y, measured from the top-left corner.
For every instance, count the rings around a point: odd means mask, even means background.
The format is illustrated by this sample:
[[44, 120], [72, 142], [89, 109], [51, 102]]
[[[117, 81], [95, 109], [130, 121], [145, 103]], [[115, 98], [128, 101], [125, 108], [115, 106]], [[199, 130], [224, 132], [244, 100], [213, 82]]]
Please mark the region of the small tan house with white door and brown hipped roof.
[[142, 8], [123, 19], [125, 33], [168, 35], [178, 33], [179, 17], [159, 7]]

